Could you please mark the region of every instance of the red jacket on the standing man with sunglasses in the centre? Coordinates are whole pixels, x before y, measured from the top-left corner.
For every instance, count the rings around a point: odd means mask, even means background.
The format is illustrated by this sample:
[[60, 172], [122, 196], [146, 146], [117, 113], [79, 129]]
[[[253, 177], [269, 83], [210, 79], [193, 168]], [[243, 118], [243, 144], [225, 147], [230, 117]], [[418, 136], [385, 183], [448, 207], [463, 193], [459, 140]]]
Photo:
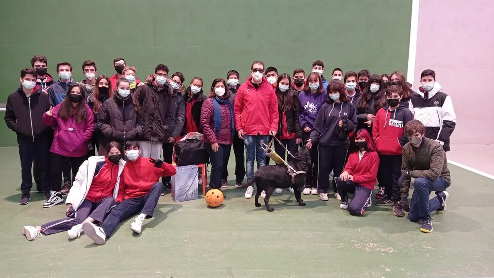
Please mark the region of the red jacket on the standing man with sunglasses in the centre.
[[235, 130], [242, 129], [247, 135], [278, 131], [278, 98], [273, 86], [263, 78], [259, 89], [255, 89], [250, 80], [252, 77], [240, 85], [235, 95]]

